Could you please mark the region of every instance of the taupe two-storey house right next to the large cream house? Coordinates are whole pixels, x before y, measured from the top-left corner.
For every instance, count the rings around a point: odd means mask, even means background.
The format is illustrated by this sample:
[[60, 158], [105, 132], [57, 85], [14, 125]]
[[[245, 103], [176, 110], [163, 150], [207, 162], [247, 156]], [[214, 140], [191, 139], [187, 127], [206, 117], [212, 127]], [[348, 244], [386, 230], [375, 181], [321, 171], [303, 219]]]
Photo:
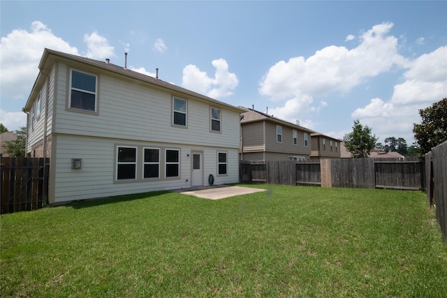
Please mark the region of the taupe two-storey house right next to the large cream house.
[[263, 112], [247, 109], [241, 114], [243, 161], [281, 161], [309, 159], [311, 131]]

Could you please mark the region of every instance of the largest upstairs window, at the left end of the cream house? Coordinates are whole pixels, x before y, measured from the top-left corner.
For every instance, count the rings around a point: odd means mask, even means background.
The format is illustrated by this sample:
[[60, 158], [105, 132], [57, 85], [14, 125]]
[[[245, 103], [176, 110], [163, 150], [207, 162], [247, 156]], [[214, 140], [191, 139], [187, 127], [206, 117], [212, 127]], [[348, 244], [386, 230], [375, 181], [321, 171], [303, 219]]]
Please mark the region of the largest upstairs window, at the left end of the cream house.
[[96, 112], [96, 75], [71, 70], [70, 107]]

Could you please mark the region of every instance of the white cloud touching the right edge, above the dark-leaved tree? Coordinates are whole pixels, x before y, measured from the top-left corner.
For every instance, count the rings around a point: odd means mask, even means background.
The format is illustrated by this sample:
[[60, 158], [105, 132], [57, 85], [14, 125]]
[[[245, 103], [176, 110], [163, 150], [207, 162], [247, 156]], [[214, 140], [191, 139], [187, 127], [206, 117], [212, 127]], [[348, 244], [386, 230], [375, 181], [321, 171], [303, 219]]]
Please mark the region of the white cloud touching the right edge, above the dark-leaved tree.
[[[394, 87], [388, 101], [373, 98], [351, 116], [360, 119], [381, 135], [404, 137], [411, 144], [413, 123], [420, 122], [419, 109], [428, 107], [447, 94], [447, 46], [409, 62], [406, 81]], [[398, 135], [397, 135], [398, 134]]]

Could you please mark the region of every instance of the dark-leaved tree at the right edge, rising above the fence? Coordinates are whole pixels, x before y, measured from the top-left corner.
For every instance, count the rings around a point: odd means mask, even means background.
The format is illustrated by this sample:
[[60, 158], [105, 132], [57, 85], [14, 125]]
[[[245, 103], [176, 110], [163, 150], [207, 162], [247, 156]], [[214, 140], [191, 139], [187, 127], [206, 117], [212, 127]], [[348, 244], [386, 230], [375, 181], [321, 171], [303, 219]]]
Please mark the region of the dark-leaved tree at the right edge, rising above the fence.
[[419, 114], [422, 122], [413, 124], [414, 139], [420, 146], [420, 153], [426, 154], [447, 140], [447, 98], [419, 110]]

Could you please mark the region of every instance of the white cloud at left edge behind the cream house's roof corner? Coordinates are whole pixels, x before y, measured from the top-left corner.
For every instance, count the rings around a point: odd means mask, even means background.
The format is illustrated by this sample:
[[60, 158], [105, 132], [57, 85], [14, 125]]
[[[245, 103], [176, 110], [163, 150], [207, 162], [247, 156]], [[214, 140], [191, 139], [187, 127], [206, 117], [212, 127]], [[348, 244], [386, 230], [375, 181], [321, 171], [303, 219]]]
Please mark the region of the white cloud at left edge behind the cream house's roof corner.
[[1, 38], [0, 89], [1, 98], [23, 100], [28, 96], [38, 74], [38, 64], [45, 47], [78, 54], [65, 40], [54, 36], [42, 22], [32, 22], [31, 31], [15, 29]]

